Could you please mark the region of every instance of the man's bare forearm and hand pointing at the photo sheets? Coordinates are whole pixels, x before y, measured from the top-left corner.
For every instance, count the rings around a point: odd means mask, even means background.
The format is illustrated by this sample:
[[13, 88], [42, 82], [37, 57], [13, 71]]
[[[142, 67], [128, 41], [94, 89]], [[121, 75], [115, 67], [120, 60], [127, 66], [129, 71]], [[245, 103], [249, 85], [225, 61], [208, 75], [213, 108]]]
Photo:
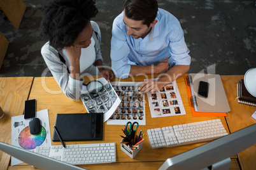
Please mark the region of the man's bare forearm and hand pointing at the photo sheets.
[[141, 93], [153, 93], [155, 91], [159, 91], [159, 89], [187, 73], [189, 67], [190, 65], [174, 65], [166, 74], [163, 74], [158, 81], [148, 79], [143, 82], [141, 86], [139, 86], [139, 90]]

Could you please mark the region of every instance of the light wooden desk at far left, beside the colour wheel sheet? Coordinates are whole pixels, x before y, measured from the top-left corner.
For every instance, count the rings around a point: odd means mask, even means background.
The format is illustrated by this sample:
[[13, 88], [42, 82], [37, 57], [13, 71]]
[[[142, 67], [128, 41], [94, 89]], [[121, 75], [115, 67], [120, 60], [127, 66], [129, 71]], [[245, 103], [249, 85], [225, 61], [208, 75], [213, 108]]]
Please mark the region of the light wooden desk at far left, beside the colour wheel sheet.
[[[0, 78], [0, 105], [4, 117], [0, 119], [0, 141], [11, 144], [11, 117], [22, 115], [29, 97], [33, 77]], [[10, 155], [0, 151], [0, 169], [7, 169]]]

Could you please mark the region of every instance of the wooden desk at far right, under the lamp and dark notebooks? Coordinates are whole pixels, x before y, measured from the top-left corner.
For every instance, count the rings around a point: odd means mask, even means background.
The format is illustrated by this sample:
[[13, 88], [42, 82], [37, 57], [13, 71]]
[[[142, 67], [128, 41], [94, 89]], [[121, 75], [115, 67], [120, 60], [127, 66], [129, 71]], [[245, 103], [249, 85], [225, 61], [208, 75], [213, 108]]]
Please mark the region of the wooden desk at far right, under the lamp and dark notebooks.
[[[231, 133], [255, 124], [256, 121], [251, 115], [255, 112], [256, 107], [243, 105], [236, 100], [238, 97], [237, 84], [244, 76], [222, 75], [221, 77], [227, 99], [229, 100], [229, 106], [231, 107], [231, 112], [225, 117]], [[255, 169], [256, 144], [239, 153], [238, 159], [242, 169]]]

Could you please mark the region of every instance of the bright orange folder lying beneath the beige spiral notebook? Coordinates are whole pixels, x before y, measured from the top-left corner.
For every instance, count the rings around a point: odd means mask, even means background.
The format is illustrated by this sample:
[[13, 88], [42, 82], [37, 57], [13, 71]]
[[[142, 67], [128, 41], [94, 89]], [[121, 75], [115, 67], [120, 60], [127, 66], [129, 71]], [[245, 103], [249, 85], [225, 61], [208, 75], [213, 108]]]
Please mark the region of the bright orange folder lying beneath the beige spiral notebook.
[[185, 84], [188, 92], [188, 100], [189, 105], [191, 109], [192, 116], [227, 116], [225, 112], [196, 112], [194, 110], [194, 103], [196, 101], [193, 101], [195, 97], [192, 98], [191, 90], [190, 90], [190, 81], [191, 79], [188, 78], [188, 76], [185, 77]]

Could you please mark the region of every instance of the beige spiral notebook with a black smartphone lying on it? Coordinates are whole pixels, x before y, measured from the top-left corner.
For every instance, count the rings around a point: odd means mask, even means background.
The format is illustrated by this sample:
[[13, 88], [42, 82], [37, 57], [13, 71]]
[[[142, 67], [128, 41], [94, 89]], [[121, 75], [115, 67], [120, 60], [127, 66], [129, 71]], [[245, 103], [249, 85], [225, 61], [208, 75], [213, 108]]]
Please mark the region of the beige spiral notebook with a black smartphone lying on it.
[[[196, 112], [229, 112], [229, 102], [225, 95], [225, 90], [218, 74], [188, 74], [190, 84], [191, 101]], [[208, 82], [208, 98], [203, 98], [197, 94], [199, 82]]]

